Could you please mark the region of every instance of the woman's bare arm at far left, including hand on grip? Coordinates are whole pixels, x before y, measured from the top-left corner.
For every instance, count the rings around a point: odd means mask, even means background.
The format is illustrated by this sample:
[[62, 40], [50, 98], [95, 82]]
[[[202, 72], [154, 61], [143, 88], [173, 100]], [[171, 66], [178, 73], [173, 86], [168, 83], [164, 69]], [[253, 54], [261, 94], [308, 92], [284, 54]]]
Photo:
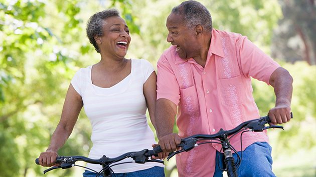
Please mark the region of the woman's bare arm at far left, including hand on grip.
[[69, 85], [60, 121], [52, 135], [51, 143], [45, 152], [39, 156], [39, 162], [42, 166], [52, 166], [55, 164], [57, 151], [62, 147], [70, 136], [78, 115], [83, 106], [82, 98], [74, 89], [72, 84]]

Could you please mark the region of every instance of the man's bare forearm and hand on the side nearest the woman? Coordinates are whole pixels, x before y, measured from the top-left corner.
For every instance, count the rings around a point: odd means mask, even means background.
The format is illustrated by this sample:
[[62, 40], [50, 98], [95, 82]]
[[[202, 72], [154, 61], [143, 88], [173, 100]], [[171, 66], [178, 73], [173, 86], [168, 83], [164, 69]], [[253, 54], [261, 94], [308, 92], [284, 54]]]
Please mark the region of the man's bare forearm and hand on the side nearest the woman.
[[[155, 119], [159, 145], [164, 151], [170, 152], [177, 149], [181, 138], [173, 133], [177, 105], [169, 99], [160, 98], [156, 102]], [[160, 156], [161, 158], [161, 156]]]

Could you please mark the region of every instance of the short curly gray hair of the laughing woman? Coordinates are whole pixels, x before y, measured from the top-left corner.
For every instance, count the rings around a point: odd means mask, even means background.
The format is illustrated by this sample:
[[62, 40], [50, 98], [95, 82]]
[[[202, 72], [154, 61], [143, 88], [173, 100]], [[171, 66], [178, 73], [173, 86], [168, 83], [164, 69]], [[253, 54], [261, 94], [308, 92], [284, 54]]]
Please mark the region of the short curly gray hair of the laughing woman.
[[95, 50], [98, 53], [100, 53], [100, 48], [98, 47], [98, 45], [94, 39], [94, 36], [95, 35], [98, 35], [98, 36], [103, 35], [103, 25], [104, 25], [103, 20], [108, 18], [108, 17], [112, 17], [112, 16], [120, 16], [117, 9], [110, 8], [110, 9], [106, 9], [106, 10], [103, 10], [100, 12], [96, 12], [88, 20], [87, 28], [86, 28], [87, 36], [90, 40], [90, 43], [93, 44]]

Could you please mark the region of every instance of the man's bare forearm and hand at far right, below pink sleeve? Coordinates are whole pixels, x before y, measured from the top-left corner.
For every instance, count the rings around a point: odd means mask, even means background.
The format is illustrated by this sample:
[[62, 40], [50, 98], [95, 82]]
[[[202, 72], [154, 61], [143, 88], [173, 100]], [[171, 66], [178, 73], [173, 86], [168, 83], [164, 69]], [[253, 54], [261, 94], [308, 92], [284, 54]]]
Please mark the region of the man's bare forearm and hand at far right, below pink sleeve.
[[293, 78], [286, 69], [278, 67], [272, 72], [269, 83], [274, 88], [276, 101], [268, 115], [273, 124], [286, 123], [290, 120]]

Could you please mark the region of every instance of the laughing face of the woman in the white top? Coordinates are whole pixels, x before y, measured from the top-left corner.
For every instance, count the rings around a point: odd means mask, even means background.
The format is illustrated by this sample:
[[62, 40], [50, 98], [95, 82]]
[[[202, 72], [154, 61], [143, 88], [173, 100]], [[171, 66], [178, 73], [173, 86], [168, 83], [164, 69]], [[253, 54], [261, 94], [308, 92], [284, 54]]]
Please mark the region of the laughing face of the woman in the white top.
[[103, 22], [103, 35], [100, 37], [101, 43], [99, 43], [101, 54], [124, 57], [131, 40], [125, 20], [119, 16], [112, 16]]

